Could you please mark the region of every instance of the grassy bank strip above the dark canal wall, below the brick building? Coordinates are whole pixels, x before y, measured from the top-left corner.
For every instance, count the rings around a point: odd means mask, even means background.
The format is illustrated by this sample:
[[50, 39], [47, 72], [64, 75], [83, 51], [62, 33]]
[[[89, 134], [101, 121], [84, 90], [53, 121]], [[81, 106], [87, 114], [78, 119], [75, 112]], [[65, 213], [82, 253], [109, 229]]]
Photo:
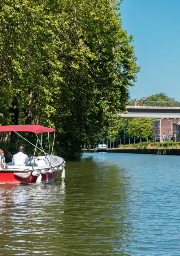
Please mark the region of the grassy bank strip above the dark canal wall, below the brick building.
[[137, 144], [118, 145], [118, 149], [180, 149], [180, 142], [141, 142]]

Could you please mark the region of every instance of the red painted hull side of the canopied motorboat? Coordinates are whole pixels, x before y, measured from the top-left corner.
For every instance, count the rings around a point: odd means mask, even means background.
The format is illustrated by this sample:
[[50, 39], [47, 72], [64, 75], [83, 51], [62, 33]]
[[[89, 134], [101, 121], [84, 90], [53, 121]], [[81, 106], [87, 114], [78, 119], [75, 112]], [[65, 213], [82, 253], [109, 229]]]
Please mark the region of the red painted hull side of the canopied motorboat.
[[[0, 172], [0, 184], [13, 184], [13, 185], [20, 185], [20, 184], [32, 184], [36, 183], [37, 176], [33, 176], [32, 173], [27, 178], [22, 178], [16, 176], [16, 172], [14, 171], [1, 171]], [[22, 172], [24, 173], [24, 172]], [[53, 182], [57, 177], [58, 172], [41, 174], [41, 184], [46, 184]], [[61, 173], [61, 172], [60, 172]]]

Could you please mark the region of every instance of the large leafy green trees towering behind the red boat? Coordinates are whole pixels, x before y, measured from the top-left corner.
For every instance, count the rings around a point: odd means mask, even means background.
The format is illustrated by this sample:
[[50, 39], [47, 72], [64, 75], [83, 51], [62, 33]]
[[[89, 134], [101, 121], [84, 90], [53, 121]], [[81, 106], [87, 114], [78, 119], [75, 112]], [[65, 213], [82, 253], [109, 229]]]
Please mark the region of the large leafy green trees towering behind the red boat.
[[116, 136], [117, 114], [139, 71], [132, 36], [116, 12], [120, 2], [0, 3], [2, 125], [54, 127], [55, 150], [69, 158], [94, 144], [104, 127]]

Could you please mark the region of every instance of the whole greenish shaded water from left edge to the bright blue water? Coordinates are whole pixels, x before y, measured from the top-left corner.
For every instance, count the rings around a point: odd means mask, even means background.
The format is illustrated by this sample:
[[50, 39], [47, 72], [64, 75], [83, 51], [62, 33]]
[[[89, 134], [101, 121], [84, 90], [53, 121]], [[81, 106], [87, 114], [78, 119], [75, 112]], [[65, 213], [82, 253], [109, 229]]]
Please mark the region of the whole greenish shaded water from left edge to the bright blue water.
[[0, 254], [115, 254], [130, 232], [128, 179], [97, 156], [67, 162], [65, 182], [0, 187]]

